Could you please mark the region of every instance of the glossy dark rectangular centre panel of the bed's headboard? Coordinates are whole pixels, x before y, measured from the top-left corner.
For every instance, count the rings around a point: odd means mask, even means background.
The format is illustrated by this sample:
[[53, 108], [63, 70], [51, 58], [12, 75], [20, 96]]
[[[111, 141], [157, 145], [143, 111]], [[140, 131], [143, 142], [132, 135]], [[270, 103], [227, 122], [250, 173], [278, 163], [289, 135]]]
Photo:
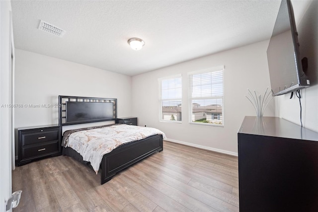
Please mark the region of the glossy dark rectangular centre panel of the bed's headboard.
[[113, 119], [113, 103], [66, 102], [67, 122]]

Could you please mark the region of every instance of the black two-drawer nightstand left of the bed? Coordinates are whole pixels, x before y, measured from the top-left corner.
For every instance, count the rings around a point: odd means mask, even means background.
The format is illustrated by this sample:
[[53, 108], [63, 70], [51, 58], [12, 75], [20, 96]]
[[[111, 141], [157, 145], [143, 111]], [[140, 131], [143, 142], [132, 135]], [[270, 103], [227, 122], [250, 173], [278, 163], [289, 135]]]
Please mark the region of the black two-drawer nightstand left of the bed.
[[17, 130], [17, 166], [45, 156], [61, 155], [61, 127], [58, 124], [21, 127]]

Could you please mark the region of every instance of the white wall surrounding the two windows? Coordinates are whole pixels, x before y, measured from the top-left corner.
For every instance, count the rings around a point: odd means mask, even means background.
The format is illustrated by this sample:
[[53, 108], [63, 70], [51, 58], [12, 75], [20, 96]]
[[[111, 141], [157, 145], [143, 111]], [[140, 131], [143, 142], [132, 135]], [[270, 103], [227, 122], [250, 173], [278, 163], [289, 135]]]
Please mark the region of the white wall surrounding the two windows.
[[[268, 41], [202, 57], [132, 78], [132, 114], [138, 125], [162, 130], [168, 140], [236, 155], [237, 132], [245, 115], [255, 115], [245, 98], [247, 89], [264, 93], [270, 87], [266, 49]], [[189, 124], [188, 76], [195, 70], [224, 65], [225, 126]], [[158, 78], [182, 74], [182, 123], [159, 122]], [[274, 116], [274, 103], [265, 115]]]

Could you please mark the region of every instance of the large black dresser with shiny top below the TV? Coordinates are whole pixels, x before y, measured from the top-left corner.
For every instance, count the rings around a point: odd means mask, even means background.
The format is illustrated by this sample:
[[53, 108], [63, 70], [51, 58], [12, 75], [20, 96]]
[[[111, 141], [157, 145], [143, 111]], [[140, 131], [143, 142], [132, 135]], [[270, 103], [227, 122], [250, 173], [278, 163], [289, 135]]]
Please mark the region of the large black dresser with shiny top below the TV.
[[240, 212], [318, 211], [317, 132], [246, 116], [238, 145]]

